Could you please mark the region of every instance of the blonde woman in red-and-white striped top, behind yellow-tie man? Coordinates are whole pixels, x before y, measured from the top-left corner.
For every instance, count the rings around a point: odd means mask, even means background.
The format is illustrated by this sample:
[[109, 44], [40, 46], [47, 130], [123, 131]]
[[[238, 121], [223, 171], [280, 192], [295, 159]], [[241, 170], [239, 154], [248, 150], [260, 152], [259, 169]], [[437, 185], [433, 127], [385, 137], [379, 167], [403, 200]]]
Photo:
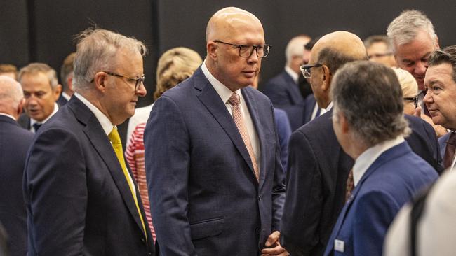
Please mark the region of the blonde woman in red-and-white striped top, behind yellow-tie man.
[[[177, 47], [163, 53], [159, 59], [156, 69], [156, 90], [154, 100], [158, 99], [163, 92], [169, 90], [183, 80], [192, 76], [198, 69], [203, 60], [197, 52], [185, 47]], [[149, 194], [147, 193], [146, 171], [144, 164], [144, 129], [147, 118], [154, 104], [137, 108], [135, 115], [128, 122], [126, 160], [133, 176], [138, 183], [141, 194], [142, 204], [146, 213], [152, 236], [155, 241], [155, 231], [152, 225], [152, 216], [149, 204]]]

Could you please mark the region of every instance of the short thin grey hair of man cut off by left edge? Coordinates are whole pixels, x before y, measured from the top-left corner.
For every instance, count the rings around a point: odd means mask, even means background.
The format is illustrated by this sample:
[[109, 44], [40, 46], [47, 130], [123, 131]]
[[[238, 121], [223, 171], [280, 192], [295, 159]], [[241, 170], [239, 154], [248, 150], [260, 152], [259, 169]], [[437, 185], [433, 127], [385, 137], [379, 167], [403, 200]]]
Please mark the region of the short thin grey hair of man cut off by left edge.
[[24, 98], [24, 92], [18, 81], [8, 76], [0, 76], [0, 106], [8, 104], [8, 107], [18, 108]]

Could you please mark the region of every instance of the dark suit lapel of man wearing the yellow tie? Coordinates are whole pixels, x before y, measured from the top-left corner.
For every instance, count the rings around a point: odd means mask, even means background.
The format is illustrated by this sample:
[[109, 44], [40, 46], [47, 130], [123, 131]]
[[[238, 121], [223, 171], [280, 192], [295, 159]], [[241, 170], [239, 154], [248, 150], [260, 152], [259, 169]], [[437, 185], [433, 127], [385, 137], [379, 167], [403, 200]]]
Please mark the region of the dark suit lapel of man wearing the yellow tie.
[[[72, 103], [72, 101], [76, 102]], [[74, 115], [79, 120], [79, 122], [82, 122], [85, 125], [83, 132], [86, 134], [90, 143], [92, 143], [93, 148], [95, 148], [95, 150], [98, 152], [98, 155], [100, 155], [103, 162], [105, 162], [107, 169], [109, 170], [109, 173], [111, 173], [114, 183], [116, 183], [117, 189], [119, 190], [121, 197], [128, 208], [128, 211], [130, 211], [136, 224], [144, 234], [142, 231], [140, 216], [138, 215], [135, 201], [133, 201], [133, 194], [131, 194], [130, 187], [128, 186], [126, 177], [123, 175], [119, 160], [117, 159], [112, 145], [109, 142], [105, 131], [103, 131], [100, 122], [98, 122], [97, 118], [95, 118], [95, 115], [93, 115], [93, 113], [76, 97], [72, 97], [72, 99], [70, 99], [68, 106], [69, 108], [72, 108]], [[128, 169], [128, 171], [131, 176], [130, 169]], [[136, 188], [136, 194], [138, 194], [138, 186], [136, 185], [133, 178], [132, 180]], [[140, 199], [138, 199], [138, 201], [140, 201]], [[145, 215], [144, 220], [146, 220]]]

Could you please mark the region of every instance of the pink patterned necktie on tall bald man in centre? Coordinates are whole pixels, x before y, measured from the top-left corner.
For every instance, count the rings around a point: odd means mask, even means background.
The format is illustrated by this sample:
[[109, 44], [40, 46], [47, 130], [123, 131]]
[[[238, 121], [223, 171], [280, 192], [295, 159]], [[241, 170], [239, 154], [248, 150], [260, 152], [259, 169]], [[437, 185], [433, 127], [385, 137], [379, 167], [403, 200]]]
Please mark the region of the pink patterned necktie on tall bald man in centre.
[[242, 140], [244, 144], [246, 144], [248, 155], [250, 155], [250, 160], [252, 160], [253, 164], [253, 171], [255, 171], [255, 176], [257, 180], [260, 179], [260, 170], [258, 170], [257, 160], [255, 159], [255, 155], [253, 154], [252, 144], [250, 143], [250, 137], [248, 136], [247, 127], [244, 123], [244, 119], [241, 113], [241, 106], [239, 106], [240, 97], [236, 92], [233, 92], [232, 96], [229, 97], [228, 102], [232, 104], [232, 112], [233, 112], [233, 119], [236, 127], [239, 129], [239, 133], [241, 134]]

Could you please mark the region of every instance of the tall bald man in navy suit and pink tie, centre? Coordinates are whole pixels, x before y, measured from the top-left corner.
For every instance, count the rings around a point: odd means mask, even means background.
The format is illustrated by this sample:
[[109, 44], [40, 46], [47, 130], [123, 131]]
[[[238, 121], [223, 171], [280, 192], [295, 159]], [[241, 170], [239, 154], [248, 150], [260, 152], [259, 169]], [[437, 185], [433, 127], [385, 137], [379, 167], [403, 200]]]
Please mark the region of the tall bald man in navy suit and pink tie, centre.
[[145, 164], [161, 255], [288, 255], [274, 110], [248, 86], [269, 48], [255, 15], [223, 8], [201, 67], [154, 104]]

